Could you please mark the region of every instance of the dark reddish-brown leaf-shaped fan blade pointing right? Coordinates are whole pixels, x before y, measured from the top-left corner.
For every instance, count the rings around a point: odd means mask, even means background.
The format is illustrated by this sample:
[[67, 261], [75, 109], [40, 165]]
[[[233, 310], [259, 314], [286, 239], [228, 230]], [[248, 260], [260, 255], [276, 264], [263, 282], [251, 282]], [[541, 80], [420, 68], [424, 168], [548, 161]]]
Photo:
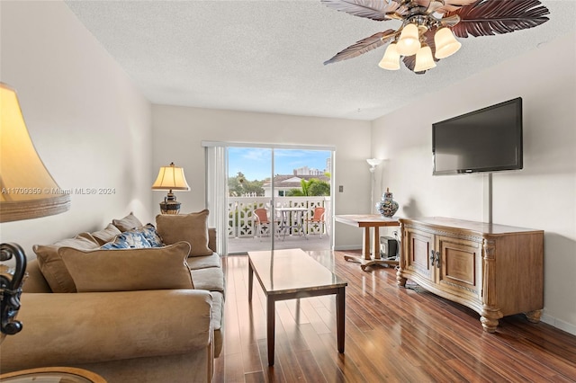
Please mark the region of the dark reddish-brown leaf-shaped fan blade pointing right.
[[548, 21], [550, 14], [538, 0], [478, 0], [454, 13], [460, 16], [452, 31], [457, 37], [489, 36], [534, 28]]

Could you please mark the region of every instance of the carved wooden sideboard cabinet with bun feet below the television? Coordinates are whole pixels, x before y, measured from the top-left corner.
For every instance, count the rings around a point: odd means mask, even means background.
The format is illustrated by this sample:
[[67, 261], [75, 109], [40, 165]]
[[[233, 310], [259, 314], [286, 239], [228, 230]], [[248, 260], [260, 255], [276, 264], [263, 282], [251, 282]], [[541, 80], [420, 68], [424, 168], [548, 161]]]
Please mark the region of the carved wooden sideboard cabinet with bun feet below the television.
[[544, 231], [451, 218], [400, 218], [407, 279], [480, 314], [485, 331], [502, 316], [540, 321], [544, 307]]

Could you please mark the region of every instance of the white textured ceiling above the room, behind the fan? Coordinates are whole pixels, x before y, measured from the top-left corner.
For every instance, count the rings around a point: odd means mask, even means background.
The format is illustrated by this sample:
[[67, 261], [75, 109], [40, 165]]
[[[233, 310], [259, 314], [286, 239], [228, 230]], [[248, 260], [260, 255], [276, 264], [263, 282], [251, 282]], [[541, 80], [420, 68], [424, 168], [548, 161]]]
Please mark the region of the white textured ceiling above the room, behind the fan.
[[403, 66], [377, 67], [384, 48], [324, 66], [357, 40], [400, 24], [337, 12], [320, 0], [67, 1], [67, 6], [150, 102], [374, 120], [576, 29], [576, 1], [542, 3], [550, 21], [461, 39], [462, 49], [421, 76]]

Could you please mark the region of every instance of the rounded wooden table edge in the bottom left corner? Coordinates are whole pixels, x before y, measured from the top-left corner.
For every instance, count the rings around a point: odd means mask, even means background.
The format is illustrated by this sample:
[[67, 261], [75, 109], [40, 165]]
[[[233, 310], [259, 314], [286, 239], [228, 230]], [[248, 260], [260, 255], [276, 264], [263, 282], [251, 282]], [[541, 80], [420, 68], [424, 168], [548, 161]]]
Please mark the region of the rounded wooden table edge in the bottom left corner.
[[42, 367], [39, 369], [7, 372], [0, 375], [3, 383], [106, 383], [100, 375], [92, 371], [74, 367]]

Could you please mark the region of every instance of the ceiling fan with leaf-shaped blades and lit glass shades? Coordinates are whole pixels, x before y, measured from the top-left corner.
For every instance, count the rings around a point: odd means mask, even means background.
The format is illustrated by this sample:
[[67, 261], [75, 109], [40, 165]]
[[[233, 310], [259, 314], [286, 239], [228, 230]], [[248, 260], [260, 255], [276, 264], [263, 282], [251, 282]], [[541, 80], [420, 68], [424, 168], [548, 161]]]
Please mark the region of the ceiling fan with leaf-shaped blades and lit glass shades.
[[[461, 47], [455, 39], [489, 36], [536, 27], [550, 12], [538, 0], [320, 0], [329, 8], [378, 22], [399, 20], [401, 27], [375, 33], [344, 49], [324, 65], [356, 58], [390, 42], [378, 64], [416, 74], [436, 67]], [[403, 58], [402, 58], [403, 57]]]

